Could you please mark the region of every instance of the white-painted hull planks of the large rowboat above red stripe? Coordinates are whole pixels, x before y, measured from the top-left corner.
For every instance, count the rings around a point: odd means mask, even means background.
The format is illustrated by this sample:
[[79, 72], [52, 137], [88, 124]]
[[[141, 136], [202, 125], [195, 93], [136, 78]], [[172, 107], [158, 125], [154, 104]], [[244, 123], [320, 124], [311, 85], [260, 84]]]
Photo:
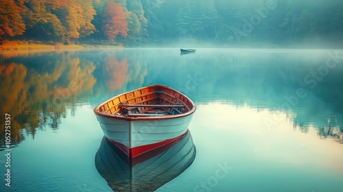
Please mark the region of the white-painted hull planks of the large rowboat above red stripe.
[[126, 121], [97, 115], [105, 136], [128, 149], [161, 143], [187, 132], [193, 114], [174, 119]]

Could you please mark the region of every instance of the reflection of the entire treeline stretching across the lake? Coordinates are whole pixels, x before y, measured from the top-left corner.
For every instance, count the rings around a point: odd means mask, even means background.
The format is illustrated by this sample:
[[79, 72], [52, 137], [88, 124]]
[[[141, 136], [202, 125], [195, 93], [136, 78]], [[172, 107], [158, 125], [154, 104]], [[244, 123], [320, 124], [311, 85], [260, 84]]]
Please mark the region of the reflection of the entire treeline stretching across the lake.
[[[174, 55], [169, 49], [116, 49], [103, 51], [102, 60], [95, 59], [99, 51], [3, 55], [0, 112], [13, 117], [12, 143], [20, 143], [25, 132], [34, 137], [36, 130], [58, 130], [61, 119], [69, 111], [75, 115], [82, 99], [158, 82], [185, 91], [189, 77], [202, 80], [186, 93], [199, 103], [224, 99], [235, 106], [284, 112], [294, 130], [307, 133], [314, 127], [321, 138], [338, 138], [343, 132], [342, 65], [315, 88], [304, 81], [325, 64], [325, 51], [198, 51], [183, 58], [179, 49]], [[298, 88], [307, 96], [292, 106], [285, 97]], [[4, 143], [1, 118], [0, 123]]]

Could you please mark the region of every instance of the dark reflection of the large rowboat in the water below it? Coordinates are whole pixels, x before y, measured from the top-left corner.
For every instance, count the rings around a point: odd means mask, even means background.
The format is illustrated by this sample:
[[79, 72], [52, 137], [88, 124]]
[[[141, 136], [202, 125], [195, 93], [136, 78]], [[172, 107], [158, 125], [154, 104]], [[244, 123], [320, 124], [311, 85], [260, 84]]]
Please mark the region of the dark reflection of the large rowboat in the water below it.
[[180, 139], [129, 158], [104, 138], [95, 155], [95, 167], [113, 191], [155, 191], [185, 171], [196, 158], [189, 130]]

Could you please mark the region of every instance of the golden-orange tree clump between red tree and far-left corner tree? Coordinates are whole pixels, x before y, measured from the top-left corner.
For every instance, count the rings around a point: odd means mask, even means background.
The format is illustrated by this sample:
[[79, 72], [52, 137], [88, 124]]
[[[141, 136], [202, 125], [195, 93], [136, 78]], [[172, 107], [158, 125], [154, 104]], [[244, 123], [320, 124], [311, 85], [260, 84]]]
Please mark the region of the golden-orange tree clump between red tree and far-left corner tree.
[[96, 14], [92, 0], [27, 1], [27, 35], [54, 41], [88, 36]]

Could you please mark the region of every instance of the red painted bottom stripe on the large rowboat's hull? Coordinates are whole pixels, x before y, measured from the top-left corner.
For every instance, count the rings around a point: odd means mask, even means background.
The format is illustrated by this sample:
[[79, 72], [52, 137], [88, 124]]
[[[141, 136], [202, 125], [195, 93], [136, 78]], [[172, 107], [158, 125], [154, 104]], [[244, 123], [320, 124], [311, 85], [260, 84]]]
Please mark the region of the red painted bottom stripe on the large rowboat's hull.
[[[187, 132], [188, 132], [188, 130], [187, 130]], [[141, 145], [141, 146], [134, 147], [134, 148], [131, 148], [131, 149], [128, 146], [123, 145], [123, 144], [121, 144], [121, 143], [119, 143], [117, 141], [113, 141], [111, 139], [108, 139], [108, 141], [110, 141], [111, 143], [113, 143], [117, 147], [119, 147], [124, 153], [126, 153], [128, 155], [128, 157], [135, 158], [137, 156], [140, 156], [141, 154], [144, 154], [146, 152], [150, 152], [153, 149], [156, 149], [156, 148], [159, 148], [159, 147], [163, 147], [164, 145], [172, 143], [173, 141], [180, 141], [183, 137], [186, 136], [187, 132], [185, 132], [184, 134], [181, 134], [180, 136], [176, 136], [176, 137], [174, 137], [172, 139], [167, 139], [165, 141], [161, 141], [161, 142], [158, 142], [158, 143], [152, 143], [152, 144], [148, 144], [148, 145]], [[176, 144], [176, 143], [174, 143], [174, 144]]]

